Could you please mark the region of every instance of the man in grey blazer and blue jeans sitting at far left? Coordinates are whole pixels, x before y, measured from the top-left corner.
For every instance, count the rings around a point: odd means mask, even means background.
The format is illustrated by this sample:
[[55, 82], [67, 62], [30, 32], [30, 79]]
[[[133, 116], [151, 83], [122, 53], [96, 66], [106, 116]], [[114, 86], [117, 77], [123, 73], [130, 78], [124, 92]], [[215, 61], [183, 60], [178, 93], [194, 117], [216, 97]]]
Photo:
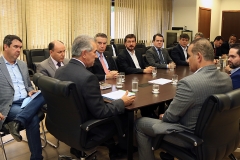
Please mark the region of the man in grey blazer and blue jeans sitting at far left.
[[[3, 55], [0, 57], [0, 129], [5, 126], [20, 142], [21, 128], [26, 128], [31, 160], [42, 160], [38, 111], [45, 104], [41, 93], [24, 108], [23, 100], [37, 91], [31, 84], [27, 64], [17, 58], [22, 49], [22, 40], [15, 35], [7, 35], [3, 40]], [[20, 149], [19, 149], [20, 150]]]

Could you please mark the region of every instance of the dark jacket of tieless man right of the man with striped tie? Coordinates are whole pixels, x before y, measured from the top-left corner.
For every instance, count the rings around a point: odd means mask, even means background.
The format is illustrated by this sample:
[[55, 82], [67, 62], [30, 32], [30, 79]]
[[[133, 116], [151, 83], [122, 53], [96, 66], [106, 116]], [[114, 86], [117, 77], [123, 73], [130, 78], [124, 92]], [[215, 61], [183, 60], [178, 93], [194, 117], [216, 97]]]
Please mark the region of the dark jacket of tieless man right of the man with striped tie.
[[[180, 65], [180, 66], [188, 66], [189, 65], [188, 62], [186, 62], [185, 55], [184, 55], [183, 49], [180, 44], [178, 44], [177, 46], [175, 46], [172, 49], [171, 57], [172, 57], [173, 61], [176, 63], [176, 65]], [[187, 58], [188, 57], [189, 56], [187, 55]]]

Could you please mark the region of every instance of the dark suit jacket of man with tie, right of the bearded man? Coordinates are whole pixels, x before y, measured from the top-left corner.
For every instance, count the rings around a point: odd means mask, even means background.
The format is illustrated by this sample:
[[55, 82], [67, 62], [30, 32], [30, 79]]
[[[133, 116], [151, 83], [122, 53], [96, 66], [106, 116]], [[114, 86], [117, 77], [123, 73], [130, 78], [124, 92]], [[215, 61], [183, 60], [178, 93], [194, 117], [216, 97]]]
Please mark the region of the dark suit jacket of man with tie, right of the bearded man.
[[172, 58], [169, 56], [168, 51], [165, 48], [162, 48], [162, 54], [166, 64], [160, 63], [158, 53], [154, 46], [149, 48], [146, 51], [146, 59], [148, 61], [148, 64], [157, 68], [167, 68], [167, 64], [172, 62]]

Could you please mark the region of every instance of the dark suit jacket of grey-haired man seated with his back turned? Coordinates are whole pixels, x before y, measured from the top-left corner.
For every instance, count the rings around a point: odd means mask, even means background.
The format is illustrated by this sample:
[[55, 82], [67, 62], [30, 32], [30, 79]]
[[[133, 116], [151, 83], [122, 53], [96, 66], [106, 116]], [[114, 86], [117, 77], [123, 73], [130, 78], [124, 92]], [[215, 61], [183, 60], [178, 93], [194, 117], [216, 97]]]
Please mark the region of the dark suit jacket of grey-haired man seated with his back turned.
[[84, 100], [88, 109], [89, 119], [124, 113], [125, 107], [121, 99], [112, 103], [103, 101], [97, 77], [76, 59], [71, 59], [68, 64], [57, 69], [55, 78], [61, 81], [72, 81], [76, 84], [79, 99]]

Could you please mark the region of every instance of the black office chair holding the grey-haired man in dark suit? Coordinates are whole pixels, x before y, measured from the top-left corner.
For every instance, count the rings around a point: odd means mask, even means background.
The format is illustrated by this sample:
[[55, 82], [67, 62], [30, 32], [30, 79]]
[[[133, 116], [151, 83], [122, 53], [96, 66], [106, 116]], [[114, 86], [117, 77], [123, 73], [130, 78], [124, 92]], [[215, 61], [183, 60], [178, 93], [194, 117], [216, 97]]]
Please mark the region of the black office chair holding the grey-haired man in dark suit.
[[83, 98], [79, 99], [79, 93], [73, 82], [59, 81], [51, 77], [41, 76], [41, 73], [36, 73], [35, 76], [39, 77], [36, 85], [41, 88], [42, 95], [48, 105], [45, 120], [48, 131], [60, 141], [82, 151], [80, 159], [95, 154], [96, 151], [87, 156], [84, 151], [95, 148], [115, 134], [113, 130], [98, 141], [94, 141], [94, 135], [90, 134], [96, 127], [115, 123], [119, 135], [124, 136], [120, 127], [120, 120], [115, 116], [104, 119], [89, 119], [88, 109]]

